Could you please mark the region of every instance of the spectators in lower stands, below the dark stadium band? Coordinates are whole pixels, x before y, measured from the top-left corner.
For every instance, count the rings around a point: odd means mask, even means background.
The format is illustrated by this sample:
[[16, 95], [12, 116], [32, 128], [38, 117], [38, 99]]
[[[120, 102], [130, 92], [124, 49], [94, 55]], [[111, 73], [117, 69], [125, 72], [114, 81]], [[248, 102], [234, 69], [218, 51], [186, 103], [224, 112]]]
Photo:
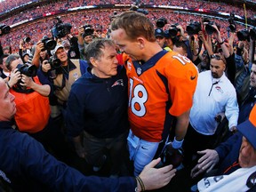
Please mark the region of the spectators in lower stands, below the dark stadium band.
[[[118, 12], [122, 12], [122, 10], [118, 10]], [[73, 12], [68, 15], [61, 16], [61, 20], [63, 23], [70, 23], [72, 25], [71, 32], [74, 36], [78, 33], [78, 28], [85, 24], [92, 25], [92, 28], [95, 30], [100, 30], [103, 34], [107, 34], [108, 25], [110, 22], [110, 18], [113, 16], [112, 10], [104, 10], [104, 11], [92, 11], [92, 12]], [[200, 21], [202, 20], [201, 16], [196, 16], [192, 14], [183, 14], [176, 12], [168, 12], [168, 11], [150, 11], [148, 13], [148, 17], [150, 20], [156, 24], [156, 20], [161, 17], [165, 17], [169, 25], [179, 23], [183, 28], [186, 28], [190, 22], [190, 20]], [[81, 20], [82, 18], [82, 20]], [[228, 37], [228, 20], [217, 20], [211, 19], [215, 21], [218, 25], [221, 26], [220, 32], [224, 38]], [[29, 36], [31, 40], [35, 43], [39, 38], [43, 36], [52, 36], [51, 29], [53, 28], [53, 22], [56, 21], [54, 18], [37, 21], [36, 23], [31, 23], [23, 26], [22, 28], [17, 28], [13, 30], [10, 34], [6, 34], [1, 38], [2, 46], [11, 46], [12, 52], [18, 52], [19, 50], [19, 42], [20, 39]], [[237, 24], [237, 31], [244, 29], [244, 26]], [[20, 33], [22, 31], [22, 33]], [[34, 38], [36, 37], [36, 39]]]

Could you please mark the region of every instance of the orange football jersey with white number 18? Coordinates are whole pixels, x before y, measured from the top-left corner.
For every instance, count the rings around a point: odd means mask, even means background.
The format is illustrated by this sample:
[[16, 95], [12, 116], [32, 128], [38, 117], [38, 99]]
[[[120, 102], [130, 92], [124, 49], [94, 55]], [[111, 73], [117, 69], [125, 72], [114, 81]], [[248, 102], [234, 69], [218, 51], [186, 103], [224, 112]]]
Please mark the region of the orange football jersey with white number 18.
[[132, 132], [142, 140], [162, 140], [164, 127], [171, 128], [172, 116], [192, 106], [197, 69], [177, 52], [158, 52], [146, 63], [124, 54], [128, 76], [129, 121]]

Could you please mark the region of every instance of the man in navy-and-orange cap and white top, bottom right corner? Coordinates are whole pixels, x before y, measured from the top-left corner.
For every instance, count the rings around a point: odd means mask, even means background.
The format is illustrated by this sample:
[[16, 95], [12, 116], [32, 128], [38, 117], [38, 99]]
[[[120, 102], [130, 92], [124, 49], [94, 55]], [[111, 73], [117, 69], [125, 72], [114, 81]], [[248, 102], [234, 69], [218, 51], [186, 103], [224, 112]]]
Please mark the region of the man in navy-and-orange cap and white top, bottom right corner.
[[[208, 177], [200, 180], [197, 184], [199, 191], [255, 191], [256, 105], [252, 108], [249, 119], [237, 126], [237, 131], [238, 134], [242, 134], [242, 144], [238, 148], [238, 160], [234, 156], [236, 161], [228, 167], [224, 174], [232, 170], [234, 166], [240, 168], [228, 175]], [[217, 156], [217, 158], [219, 157]], [[200, 166], [197, 168], [200, 169]], [[201, 169], [204, 169], [204, 166], [201, 166]]]

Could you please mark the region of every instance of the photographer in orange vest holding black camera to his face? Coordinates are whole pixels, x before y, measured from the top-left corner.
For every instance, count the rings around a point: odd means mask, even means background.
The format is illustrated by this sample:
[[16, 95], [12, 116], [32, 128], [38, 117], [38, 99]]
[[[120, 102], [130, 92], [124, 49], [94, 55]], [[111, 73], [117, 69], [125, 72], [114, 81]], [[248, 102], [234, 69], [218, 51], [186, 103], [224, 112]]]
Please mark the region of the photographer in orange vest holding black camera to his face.
[[15, 96], [17, 112], [14, 116], [16, 128], [27, 132], [44, 145], [61, 161], [69, 164], [69, 154], [60, 128], [53, 124], [50, 116], [48, 95], [51, 88], [40, 84], [36, 76], [36, 67], [22, 63], [19, 55], [11, 54], [6, 59], [6, 68], [11, 78], [6, 82], [10, 92]]

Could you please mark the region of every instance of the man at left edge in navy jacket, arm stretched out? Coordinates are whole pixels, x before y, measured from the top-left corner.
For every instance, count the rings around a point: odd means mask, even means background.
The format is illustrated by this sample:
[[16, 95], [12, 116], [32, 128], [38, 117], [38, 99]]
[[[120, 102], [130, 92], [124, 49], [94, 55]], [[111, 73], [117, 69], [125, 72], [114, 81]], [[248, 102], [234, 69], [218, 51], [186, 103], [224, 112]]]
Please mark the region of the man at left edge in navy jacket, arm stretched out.
[[161, 188], [175, 175], [172, 165], [153, 168], [160, 158], [148, 164], [140, 176], [123, 178], [86, 177], [57, 161], [43, 146], [12, 129], [15, 97], [0, 78], [0, 178], [14, 191], [141, 191]]

